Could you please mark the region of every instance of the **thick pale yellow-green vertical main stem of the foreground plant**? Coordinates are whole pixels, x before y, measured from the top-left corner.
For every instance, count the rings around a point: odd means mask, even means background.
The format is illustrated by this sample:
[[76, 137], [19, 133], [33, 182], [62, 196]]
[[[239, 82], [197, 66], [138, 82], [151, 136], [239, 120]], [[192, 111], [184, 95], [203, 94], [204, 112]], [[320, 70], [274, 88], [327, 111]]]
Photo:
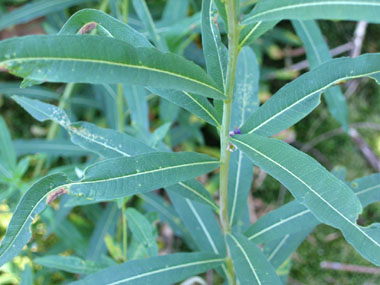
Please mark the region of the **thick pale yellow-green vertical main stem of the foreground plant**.
[[[219, 218], [222, 224], [224, 235], [231, 233], [231, 226], [228, 221], [228, 172], [231, 152], [229, 150], [229, 131], [232, 114], [232, 101], [235, 88], [236, 64], [239, 55], [239, 24], [238, 11], [236, 11], [236, 0], [226, 0], [225, 7], [228, 19], [228, 65], [227, 84], [225, 95], [227, 97], [223, 103], [223, 121], [220, 133], [220, 213]], [[229, 250], [226, 260], [229, 273], [229, 282], [235, 284], [235, 272], [232, 265]]]

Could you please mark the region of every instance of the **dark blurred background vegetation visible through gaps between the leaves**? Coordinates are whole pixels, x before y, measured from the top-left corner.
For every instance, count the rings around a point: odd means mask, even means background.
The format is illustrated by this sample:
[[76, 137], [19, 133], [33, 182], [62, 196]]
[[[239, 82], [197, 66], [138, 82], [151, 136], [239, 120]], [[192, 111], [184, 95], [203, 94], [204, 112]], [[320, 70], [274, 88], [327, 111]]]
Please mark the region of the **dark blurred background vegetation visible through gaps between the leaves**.
[[[27, 13], [26, 21], [22, 21], [24, 23], [11, 26], [5, 25], [6, 27], [1, 26], [4, 26], [2, 18], [4, 19], [12, 11], [22, 8], [28, 2], [32, 1], [0, 0], [1, 40], [28, 34], [56, 33], [70, 15], [84, 7], [103, 8], [112, 15], [121, 18], [120, 9], [123, 4], [121, 2], [124, 2], [124, 0], [92, 1], [91, 3], [75, 5], [59, 11], [52, 11], [42, 17], [29, 17], [30, 15]], [[241, 1], [242, 5], [246, 5], [244, 7], [249, 7], [254, 2]], [[159, 21], [166, 1], [150, 0], [147, 3], [153, 18]], [[191, 0], [189, 3], [188, 15], [190, 16], [200, 10], [201, 1]], [[142, 30], [141, 23], [138, 22], [137, 17], [134, 15], [131, 4], [129, 5], [129, 15], [129, 24], [138, 30]], [[175, 27], [175, 24], [172, 23], [169, 26]], [[357, 23], [319, 21], [318, 24], [329, 47], [337, 53], [336, 56], [352, 55], [355, 48], [354, 40], [355, 31], [358, 28]], [[380, 34], [380, 26], [374, 24], [365, 26], [365, 23], [363, 24], [364, 26], [361, 28], [364, 31], [364, 37], [361, 53], [379, 52], [380, 42], [377, 35]], [[199, 28], [195, 27], [185, 36], [179, 37], [179, 40], [176, 37], [178, 35], [175, 28], [173, 30], [171, 33], [166, 34], [169, 38], [169, 43], [171, 43], [169, 46], [172, 51], [182, 54], [200, 65], [204, 65]], [[252, 44], [252, 48], [262, 64], [260, 69], [260, 101], [262, 103], [284, 84], [308, 70], [301, 41], [296, 36], [290, 22], [281, 22], [276, 28]], [[17, 88], [19, 83], [18, 78], [5, 72], [0, 72], [0, 114], [6, 121], [11, 137], [15, 141], [19, 161], [23, 161], [20, 168], [24, 165], [24, 168], [20, 170], [18, 180], [12, 181], [12, 193], [16, 194], [8, 195], [5, 199], [4, 195], [8, 193], [10, 186], [7, 183], [0, 184], [2, 201], [0, 204], [0, 236], [5, 233], [12, 209], [14, 209], [21, 194], [33, 179], [46, 174], [51, 169], [65, 167], [66, 165], [69, 165], [66, 167], [67, 171], [74, 173], [74, 168], [70, 165], [81, 165], [87, 161], [83, 156], [67, 155], [67, 153], [63, 152], [58, 153], [58, 150], [56, 150], [56, 153], [53, 150], [50, 155], [45, 155], [34, 153], [33, 149], [17, 149], [17, 140], [43, 139], [51, 129], [50, 123], [41, 124], [31, 119], [22, 108], [9, 98], [10, 95], [16, 92], [12, 88]], [[57, 94], [62, 94], [64, 86], [61, 84], [45, 84], [44, 87], [46, 87], [46, 94], [43, 94], [45, 97], [42, 99], [58, 104], [59, 96]], [[377, 84], [369, 79], [343, 82], [341, 87], [348, 102], [351, 135], [340, 128], [339, 124], [329, 115], [325, 102], [322, 102], [309, 116], [291, 129], [279, 134], [278, 137], [299, 149], [307, 151], [329, 170], [336, 167], [346, 169], [346, 178], [351, 181], [380, 171], [379, 164], [376, 165], [378, 157], [380, 157], [380, 94]], [[99, 126], [114, 128], [115, 99], [106, 93], [104, 90], [102, 92], [100, 88], [94, 89], [84, 84], [77, 84], [72, 96], [64, 104], [65, 109], [70, 116], [77, 120], [90, 121]], [[41, 99], [41, 96], [39, 99]], [[172, 108], [170, 104], [159, 103], [158, 98], [154, 95], [149, 95], [147, 100], [151, 130], [157, 129], [170, 120], [175, 120], [176, 122], [165, 137], [165, 141], [169, 145], [176, 150], [200, 151], [218, 156], [218, 134], [214, 128], [207, 126], [203, 121], [191, 116], [182, 109], [178, 110], [177, 108]], [[127, 132], [136, 132], [133, 124], [127, 129]], [[58, 130], [55, 138], [67, 139], [67, 134], [62, 130]], [[370, 157], [363, 154], [364, 147], [367, 147], [372, 152]], [[52, 153], [54, 155], [51, 155]], [[369, 159], [372, 159], [372, 165]], [[45, 161], [42, 168], [41, 160]], [[218, 187], [217, 176], [205, 178], [203, 182], [206, 183], [208, 190], [215, 195]], [[15, 191], [15, 189], [18, 191]], [[255, 168], [251, 199], [252, 208], [255, 209], [255, 214], [252, 214], [253, 219], [264, 215], [291, 199], [291, 195], [284, 187]], [[132, 203], [138, 204], [138, 201], [132, 201]], [[33, 224], [32, 252], [59, 252], [56, 245], [60, 244], [58, 243], [59, 240], [64, 241], [65, 239], [75, 239], [78, 247], [83, 243], [87, 243], [89, 233], [94, 228], [94, 219], [92, 217], [96, 216], [96, 209], [95, 206], [74, 208], [68, 219], [64, 221], [64, 230], [59, 231], [58, 234], [50, 235], [46, 235], [49, 229], [45, 222], [49, 221], [51, 213], [46, 211]], [[154, 217], [152, 219], [154, 220]], [[379, 202], [365, 208], [359, 219], [359, 224], [361, 225], [368, 225], [373, 222], [380, 222]], [[120, 236], [120, 233], [116, 233], [116, 236], [118, 234]], [[161, 243], [161, 248], [165, 247], [165, 235], [162, 227], [158, 241], [159, 244]], [[108, 246], [111, 251], [113, 245]], [[173, 246], [179, 248], [183, 245], [176, 240]], [[117, 250], [114, 254], [117, 255]], [[339, 231], [325, 225], [320, 225], [313, 231], [301, 244], [297, 252], [292, 255], [290, 262], [289, 284], [380, 284], [379, 274], [364, 274], [347, 270], [336, 271], [321, 267], [322, 262], [339, 262], [341, 264], [373, 267], [344, 241]], [[27, 266], [26, 269], [24, 269], [24, 266]], [[38, 284], [60, 284], [70, 280], [70, 276], [72, 276], [68, 273], [53, 272], [40, 265], [31, 264], [28, 257], [22, 257], [16, 258], [13, 263], [8, 263], [0, 269], [0, 284], [18, 284], [22, 272], [30, 269], [28, 266], [33, 267], [35, 280], [38, 280]]]

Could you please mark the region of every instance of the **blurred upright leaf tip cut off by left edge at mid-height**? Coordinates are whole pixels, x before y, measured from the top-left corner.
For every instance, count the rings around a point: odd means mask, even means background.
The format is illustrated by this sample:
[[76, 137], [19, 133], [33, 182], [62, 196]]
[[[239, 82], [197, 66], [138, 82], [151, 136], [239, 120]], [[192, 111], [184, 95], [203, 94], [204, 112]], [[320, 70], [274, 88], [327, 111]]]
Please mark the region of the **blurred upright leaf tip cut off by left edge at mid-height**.
[[11, 135], [3, 117], [0, 116], [0, 159], [11, 172], [16, 170], [16, 153]]

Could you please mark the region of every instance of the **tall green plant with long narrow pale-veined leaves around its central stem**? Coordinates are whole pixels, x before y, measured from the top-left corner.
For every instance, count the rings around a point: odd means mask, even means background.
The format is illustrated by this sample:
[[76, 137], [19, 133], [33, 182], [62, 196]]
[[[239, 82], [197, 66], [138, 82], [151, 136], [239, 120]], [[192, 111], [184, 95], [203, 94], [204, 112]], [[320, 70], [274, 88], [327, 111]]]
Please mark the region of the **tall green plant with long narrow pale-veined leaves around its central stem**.
[[[38, 8], [41, 2], [30, 5]], [[51, 1], [56, 6], [47, 7], [46, 13], [85, 2], [91, 1]], [[201, 11], [186, 17], [189, 2], [170, 0], [163, 19], [155, 23], [145, 1], [133, 0], [136, 29], [100, 10], [83, 9], [57, 34], [0, 42], [0, 67], [22, 77], [26, 87], [8, 91], [18, 94], [12, 98], [38, 121], [60, 125], [78, 147], [56, 142], [56, 151], [71, 146], [77, 156], [92, 154], [84, 166], [78, 161], [76, 172], [53, 171], [25, 191], [1, 241], [0, 265], [20, 254], [32, 237], [33, 221], [60, 197], [55, 227], [74, 206], [106, 202], [104, 209], [97, 208], [102, 214], [87, 252], [82, 248], [78, 256], [34, 258], [48, 268], [80, 274], [74, 284], [172, 284], [210, 269], [228, 284], [282, 284], [286, 276], [279, 276], [278, 269], [319, 223], [339, 229], [358, 253], [380, 266], [380, 225], [362, 227], [356, 222], [363, 207], [380, 200], [380, 176], [348, 184], [305, 153], [270, 138], [307, 116], [322, 94], [331, 114], [347, 129], [346, 103], [336, 84], [359, 77], [377, 80], [380, 54], [332, 59], [314, 20], [377, 23], [380, 1], [260, 0], [244, 6], [252, 9], [240, 8], [240, 2], [244, 1], [203, 0]], [[0, 28], [18, 23], [11, 21], [12, 13], [2, 16]], [[304, 43], [311, 70], [259, 106], [259, 64], [250, 44], [286, 19], [292, 20]], [[207, 72], [178, 55], [192, 29], [200, 30]], [[221, 34], [227, 35], [228, 48]], [[58, 107], [28, 98], [36, 93], [40, 97], [33, 98], [44, 99], [49, 94], [42, 87], [31, 87], [43, 82], [67, 83]], [[75, 112], [63, 110], [77, 83], [93, 84], [101, 97], [115, 98], [110, 114], [116, 116], [117, 130], [75, 122]], [[149, 94], [158, 95], [168, 113], [154, 133], [149, 131]], [[133, 126], [126, 125], [124, 100]], [[216, 128], [219, 159], [172, 151], [173, 142], [164, 138], [175, 127], [178, 107]], [[6, 134], [3, 141], [9, 141], [6, 125], [2, 119], [0, 123]], [[182, 128], [191, 132], [189, 125]], [[26, 163], [17, 164], [10, 145], [1, 151], [2, 179], [22, 175]], [[247, 199], [253, 166], [277, 179], [295, 200], [251, 225]], [[218, 168], [219, 201], [214, 201], [194, 178]], [[168, 199], [152, 193], [160, 188]], [[132, 197], [159, 213], [159, 219], [169, 223], [193, 252], [158, 256], [154, 217], [127, 207]], [[120, 215], [123, 253], [117, 253], [112, 240]], [[127, 240], [127, 223], [132, 240]], [[120, 257], [120, 264], [106, 257], [107, 249], [112, 257]]]

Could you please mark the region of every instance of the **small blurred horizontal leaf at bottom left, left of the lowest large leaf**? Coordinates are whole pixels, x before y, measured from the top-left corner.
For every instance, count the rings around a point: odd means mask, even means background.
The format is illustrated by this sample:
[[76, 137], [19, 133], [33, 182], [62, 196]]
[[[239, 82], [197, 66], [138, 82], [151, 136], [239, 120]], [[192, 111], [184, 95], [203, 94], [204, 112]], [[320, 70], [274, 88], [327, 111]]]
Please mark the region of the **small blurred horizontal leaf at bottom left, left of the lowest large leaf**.
[[33, 262], [47, 268], [62, 270], [77, 274], [95, 273], [106, 266], [77, 256], [47, 255], [33, 259]]

